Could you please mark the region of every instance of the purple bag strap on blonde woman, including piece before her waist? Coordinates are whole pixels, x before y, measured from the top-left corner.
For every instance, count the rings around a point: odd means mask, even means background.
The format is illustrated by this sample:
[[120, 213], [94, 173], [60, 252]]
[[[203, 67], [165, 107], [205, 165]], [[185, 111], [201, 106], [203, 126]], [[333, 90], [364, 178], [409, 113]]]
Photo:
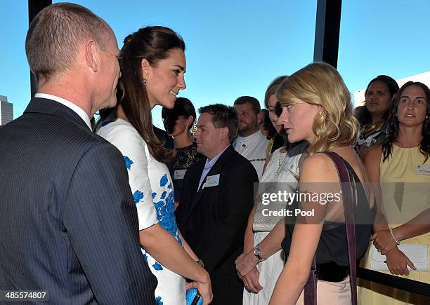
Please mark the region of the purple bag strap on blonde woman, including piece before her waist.
[[[357, 265], [356, 265], [356, 226], [354, 222], [353, 207], [353, 185], [349, 179], [349, 172], [342, 158], [332, 152], [326, 151], [324, 154], [329, 156], [336, 166], [339, 180], [341, 182], [342, 198], [344, 203], [344, 215], [346, 226], [346, 239], [348, 242], [349, 275], [351, 283], [352, 304], [357, 305]], [[317, 304], [317, 273], [315, 257], [313, 258], [311, 273], [304, 288], [304, 304]]]

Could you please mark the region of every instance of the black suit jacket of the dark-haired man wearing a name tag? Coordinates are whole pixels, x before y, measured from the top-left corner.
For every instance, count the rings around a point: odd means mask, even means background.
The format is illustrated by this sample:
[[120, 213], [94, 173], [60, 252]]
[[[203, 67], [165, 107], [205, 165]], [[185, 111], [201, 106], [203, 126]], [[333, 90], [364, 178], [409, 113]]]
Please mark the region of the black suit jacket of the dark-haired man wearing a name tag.
[[219, 184], [197, 191], [205, 163], [206, 158], [187, 170], [176, 221], [209, 273], [236, 276], [235, 259], [243, 250], [258, 177], [252, 164], [230, 145], [202, 182], [203, 186], [208, 177], [219, 175]]

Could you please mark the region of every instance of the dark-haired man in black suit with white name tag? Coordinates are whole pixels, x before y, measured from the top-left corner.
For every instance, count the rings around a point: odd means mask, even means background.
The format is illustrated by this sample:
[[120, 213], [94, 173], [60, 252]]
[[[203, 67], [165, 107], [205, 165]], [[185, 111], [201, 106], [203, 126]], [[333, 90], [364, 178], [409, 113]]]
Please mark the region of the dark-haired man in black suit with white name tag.
[[237, 136], [233, 107], [199, 109], [195, 141], [206, 156], [188, 169], [176, 210], [179, 229], [211, 276], [211, 304], [242, 304], [243, 283], [235, 270], [254, 202], [256, 171], [231, 142]]

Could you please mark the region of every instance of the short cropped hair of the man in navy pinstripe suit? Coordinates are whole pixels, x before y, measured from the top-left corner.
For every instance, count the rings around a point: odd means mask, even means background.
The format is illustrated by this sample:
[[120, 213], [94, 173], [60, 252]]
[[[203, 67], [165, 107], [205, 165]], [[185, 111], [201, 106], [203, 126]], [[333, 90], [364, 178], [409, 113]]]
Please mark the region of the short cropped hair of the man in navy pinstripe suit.
[[84, 6], [58, 3], [47, 6], [34, 18], [25, 39], [25, 53], [33, 74], [40, 81], [72, 67], [78, 47], [85, 39], [106, 50], [110, 27]]

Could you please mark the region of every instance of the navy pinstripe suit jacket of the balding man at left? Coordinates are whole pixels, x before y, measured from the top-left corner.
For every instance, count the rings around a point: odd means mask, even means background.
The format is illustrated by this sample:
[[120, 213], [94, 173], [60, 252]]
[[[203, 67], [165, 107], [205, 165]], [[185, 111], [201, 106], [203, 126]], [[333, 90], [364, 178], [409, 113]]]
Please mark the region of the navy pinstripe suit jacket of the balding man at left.
[[0, 289], [51, 304], [155, 304], [122, 154], [34, 98], [0, 130]]

